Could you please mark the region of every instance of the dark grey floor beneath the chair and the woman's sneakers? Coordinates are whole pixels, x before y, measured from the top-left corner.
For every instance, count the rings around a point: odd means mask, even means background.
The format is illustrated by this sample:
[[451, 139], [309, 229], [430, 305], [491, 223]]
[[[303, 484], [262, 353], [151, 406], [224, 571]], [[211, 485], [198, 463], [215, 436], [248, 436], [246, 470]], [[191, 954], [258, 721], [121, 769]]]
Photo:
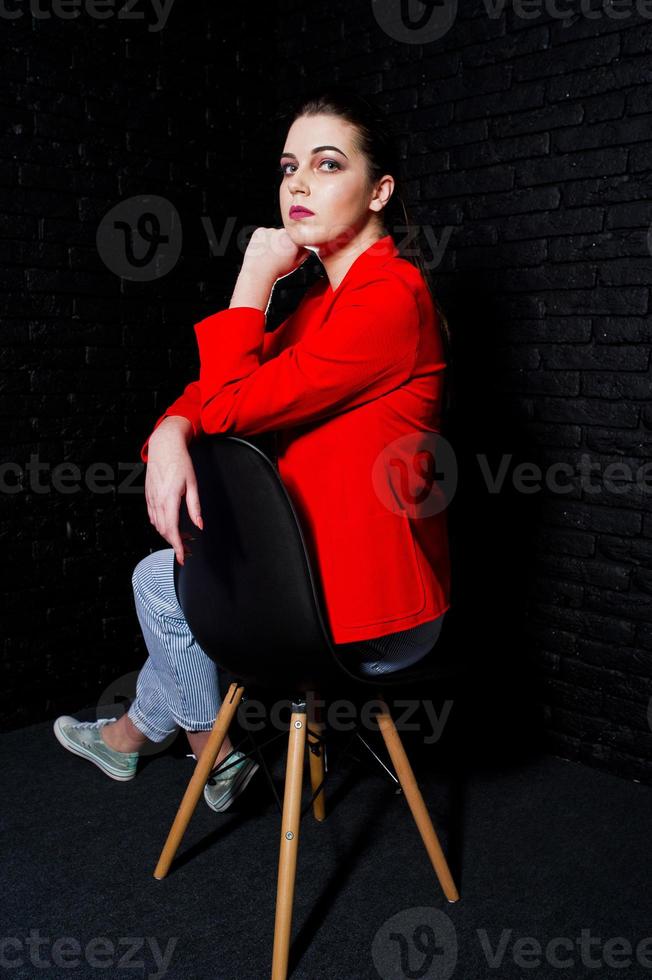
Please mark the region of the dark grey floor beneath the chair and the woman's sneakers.
[[[266, 750], [281, 795], [284, 741]], [[345, 743], [329, 748], [327, 820], [301, 823], [293, 980], [652, 976], [652, 787], [545, 755], [452, 778], [426, 750], [449, 904], [406, 800]], [[0, 746], [3, 976], [269, 978], [280, 814], [262, 772], [224, 814], [200, 802], [156, 881], [193, 765], [181, 737], [124, 784], [51, 723]]]

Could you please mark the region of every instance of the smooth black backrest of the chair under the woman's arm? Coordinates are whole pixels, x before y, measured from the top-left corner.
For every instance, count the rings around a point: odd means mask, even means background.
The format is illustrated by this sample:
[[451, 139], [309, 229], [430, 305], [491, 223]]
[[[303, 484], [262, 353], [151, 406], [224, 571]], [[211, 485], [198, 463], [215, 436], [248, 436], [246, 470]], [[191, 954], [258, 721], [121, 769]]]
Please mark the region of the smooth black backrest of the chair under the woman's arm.
[[204, 529], [185, 498], [179, 529], [191, 555], [175, 559], [177, 597], [206, 654], [243, 683], [309, 690], [338, 673], [294, 505], [272, 460], [236, 436], [189, 447]]

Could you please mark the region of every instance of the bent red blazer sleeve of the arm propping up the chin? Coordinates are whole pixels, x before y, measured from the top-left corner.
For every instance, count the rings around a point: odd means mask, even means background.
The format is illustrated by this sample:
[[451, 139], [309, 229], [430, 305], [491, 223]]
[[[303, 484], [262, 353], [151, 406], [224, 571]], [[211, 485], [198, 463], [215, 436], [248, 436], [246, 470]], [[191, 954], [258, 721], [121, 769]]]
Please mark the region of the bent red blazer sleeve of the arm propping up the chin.
[[195, 325], [205, 432], [315, 422], [392, 391], [412, 373], [420, 317], [409, 286], [390, 274], [350, 288], [323, 325], [262, 363], [264, 328], [265, 314], [248, 306]]

